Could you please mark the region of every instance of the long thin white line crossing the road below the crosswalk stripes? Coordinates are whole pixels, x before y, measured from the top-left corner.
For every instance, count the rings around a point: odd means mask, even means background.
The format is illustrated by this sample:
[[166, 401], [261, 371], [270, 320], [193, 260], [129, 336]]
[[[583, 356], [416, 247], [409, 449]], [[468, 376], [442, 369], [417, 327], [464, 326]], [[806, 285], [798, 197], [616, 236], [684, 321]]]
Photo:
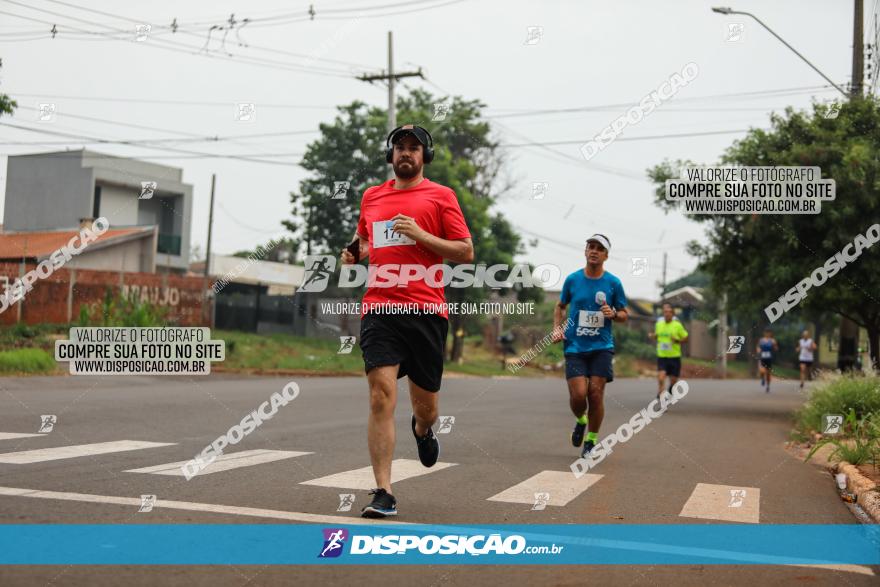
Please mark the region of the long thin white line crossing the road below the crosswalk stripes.
[[[111, 505], [125, 505], [140, 507], [143, 503], [140, 497], [116, 497], [112, 495], [94, 495], [91, 493], [68, 493], [64, 491], [40, 491], [38, 489], [22, 489], [19, 487], [0, 487], [0, 496], [33, 497], [37, 499], [59, 499], [64, 501], [83, 501], [88, 503], [103, 503]], [[307, 514], [304, 512], [287, 512], [283, 510], [267, 510], [262, 508], [246, 508], [232, 505], [219, 505], [213, 503], [197, 503], [192, 501], [171, 501], [157, 499], [153, 509], [169, 508], [175, 510], [187, 510], [191, 512], [207, 512], [212, 514], [228, 514], [231, 516], [251, 516], [254, 518], [271, 518], [273, 520], [290, 520], [293, 522], [306, 522], [311, 524], [393, 524], [395, 526], [410, 526], [408, 522], [390, 520], [377, 520], [370, 518], [350, 518], [345, 516], [325, 516], [321, 514]]]

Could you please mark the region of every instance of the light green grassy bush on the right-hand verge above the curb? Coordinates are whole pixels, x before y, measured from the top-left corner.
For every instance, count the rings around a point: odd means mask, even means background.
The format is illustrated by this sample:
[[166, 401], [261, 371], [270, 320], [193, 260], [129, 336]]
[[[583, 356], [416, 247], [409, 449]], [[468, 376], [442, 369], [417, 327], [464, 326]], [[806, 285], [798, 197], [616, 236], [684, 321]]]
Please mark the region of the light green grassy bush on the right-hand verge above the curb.
[[[877, 414], [880, 417], [880, 377], [854, 374], [824, 374], [807, 403], [795, 414], [801, 433], [822, 430], [824, 414], [847, 415], [853, 411], [856, 421]], [[853, 432], [853, 430], [848, 430]]]

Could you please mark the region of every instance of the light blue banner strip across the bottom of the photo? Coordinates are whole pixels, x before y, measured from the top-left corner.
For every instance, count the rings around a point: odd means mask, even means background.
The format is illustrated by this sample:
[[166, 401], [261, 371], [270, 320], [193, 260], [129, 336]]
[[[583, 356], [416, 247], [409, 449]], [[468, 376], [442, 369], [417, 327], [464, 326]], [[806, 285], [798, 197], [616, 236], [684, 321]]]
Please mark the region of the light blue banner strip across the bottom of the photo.
[[868, 525], [4, 524], [3, 565], [880, 564]]

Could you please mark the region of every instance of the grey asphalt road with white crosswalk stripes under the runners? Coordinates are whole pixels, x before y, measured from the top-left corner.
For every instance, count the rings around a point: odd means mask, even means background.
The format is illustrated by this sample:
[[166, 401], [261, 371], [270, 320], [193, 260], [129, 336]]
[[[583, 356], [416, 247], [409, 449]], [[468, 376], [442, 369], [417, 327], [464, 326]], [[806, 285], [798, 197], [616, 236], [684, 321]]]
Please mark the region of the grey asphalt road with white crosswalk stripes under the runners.
[[[300, 395], [226, 452], [247, 458], [187, 481], [159, 474], [187, 461], [294, 380]], [[562, 379], [449, 378], [431, 470], [400, 463], [400, 522], [441, 524], [855, 524], [830, 476], [785, 451], [795, 383], [691, 380], [689, 393], [578, 483]], [[401, 390], [404, 390], [401, 387]], [[603, 433], [653, 398], [653, 380], [618, 380], [606, 393]], [[0, 378], [3, 523], [348, 523], [369, 500], [368, 403], [363, 378]], [[409, 401], [398, 402], [395, 459], [417, 459]], [[55, 415], [35, 434], [41, 415]], [[436, 427], [435, 427], [436, 428]], [[148, 444], [127, 444], [136, 441]], [[27, 452], [96, 443], [67, 453]], [[124, 449], [124, 450], [123, 450]], [[115, 452], [110, 452], [115, 451]], [[279, 451], [279, 452], [270, 452]], [[46, 460], [50, 457], [52, 460]], [[278, 459], [278, 460], [270, 460]], [[447, 466], [441, 467], [442, 464]], [[227, 468], [228, 467], [228, 468]], [[152, 472], [132, 472], [134, 469]], [[165, 473], [179, 470], [165, 467]], [[553, 472], [559, 472], [558, 474]], [[365, 480], [364, 480], [365, 479]], [[41, 492], [41, 493], [37, 493]], [[534, 493], [546, 492], [540, 509]], [[340, 494], [354, 495], [349, 512]], [[141, 496], [157, 496], [139, 512]], [[490, 499], [491, 498], [491, 499]], [[163, 505], [172, 504], [172, 507]], [[536, 509], [536, 507], [538, 509]], [[22, 566], [2, 585], [876, 585], [880, 568], [795, 566], [263, 567]]]

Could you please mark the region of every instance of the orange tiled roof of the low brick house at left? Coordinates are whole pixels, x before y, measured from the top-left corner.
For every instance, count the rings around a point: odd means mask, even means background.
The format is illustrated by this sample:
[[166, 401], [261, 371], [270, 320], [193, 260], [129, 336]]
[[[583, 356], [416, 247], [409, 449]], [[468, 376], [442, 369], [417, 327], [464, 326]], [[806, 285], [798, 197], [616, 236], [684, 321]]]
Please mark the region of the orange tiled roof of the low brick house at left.
[[[0, 233], [0, 260], [19, 261], [24, 257], [41, 261], [66, 246], [70, 239], [79, 235], [80, 230], [79, 228], [68, 228]], [[112, 228], [89, 243], [89, 248], [94, 248], [97, 243], [101, 244], [99, 248], [103, 248], [133, 238], [152, 236], [153, 231], [152, 226]]]

